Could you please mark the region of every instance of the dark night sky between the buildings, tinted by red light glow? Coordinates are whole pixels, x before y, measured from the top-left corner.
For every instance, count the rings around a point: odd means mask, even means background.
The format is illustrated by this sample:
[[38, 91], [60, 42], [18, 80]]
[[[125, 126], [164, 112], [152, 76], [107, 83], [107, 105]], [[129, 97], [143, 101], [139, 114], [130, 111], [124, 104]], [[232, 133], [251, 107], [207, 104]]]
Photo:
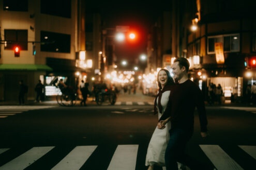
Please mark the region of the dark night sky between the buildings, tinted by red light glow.
[[118, 61], [126, 59], [131, 63], [130, 66], [138, 61], [141, 54], [146, 54], [146, 40], [150, 26], [154, 25], [162, 11], [170, 11], [170, 9], [171, 0], [86, 1], [86, 12], [101, 13], [104, 27], [127, 25], [138, 32], [138, 39], [135, 42], [116, 42], [115, 54]]

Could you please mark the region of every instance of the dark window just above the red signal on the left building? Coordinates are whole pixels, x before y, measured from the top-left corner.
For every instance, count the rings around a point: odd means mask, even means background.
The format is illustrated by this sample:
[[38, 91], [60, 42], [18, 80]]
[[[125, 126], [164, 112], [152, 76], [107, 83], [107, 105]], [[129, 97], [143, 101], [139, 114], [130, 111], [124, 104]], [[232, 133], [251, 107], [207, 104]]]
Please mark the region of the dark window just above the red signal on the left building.
[[5, 49], [13, 49], [19, 45], [21, 50], [27, 50], [27, 30], [23, 29], [5, 29]]

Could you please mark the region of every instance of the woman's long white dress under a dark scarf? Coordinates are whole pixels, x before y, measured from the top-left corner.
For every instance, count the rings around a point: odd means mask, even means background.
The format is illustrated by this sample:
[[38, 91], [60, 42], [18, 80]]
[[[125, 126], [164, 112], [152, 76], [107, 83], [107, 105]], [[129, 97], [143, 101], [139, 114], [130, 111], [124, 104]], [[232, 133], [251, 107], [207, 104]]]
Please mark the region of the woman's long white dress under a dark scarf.
[[[162, 93], [162, 97], [161, 97], [162, 113], [167, 107], [169, 96], [170, 96], [170, 91], [165, 91]], [[157, 109], [158, 109], [158, 97], [157, 97]], [[159, 113], [158, 111], [158, 120], [161, 117], [162, 113]], [[164, 154], [169, 141], [170, 128], [171, 128], [170, 121], [167, 124], [165, 124], [164, 129], [158, 129], [156, 127], [147, 148], [146, 166], [154, 165], [154, 164], [157, 164], [159, 166], [165, 166]]]

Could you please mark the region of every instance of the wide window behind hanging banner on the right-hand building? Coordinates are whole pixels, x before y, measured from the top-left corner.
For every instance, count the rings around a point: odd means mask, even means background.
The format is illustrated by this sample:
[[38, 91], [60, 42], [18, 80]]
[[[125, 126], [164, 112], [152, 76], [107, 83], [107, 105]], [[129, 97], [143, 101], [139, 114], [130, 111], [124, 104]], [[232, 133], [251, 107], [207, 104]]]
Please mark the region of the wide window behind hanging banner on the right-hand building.
[[223, 50], [226, 53], [239, 52], [240, 48], [240, 36], [239, 34], [233, 35], [219, 35], [208, 37], [208, 49], [207, 54], [215, 54], [215, 43], [221, 42], [223, 44]]

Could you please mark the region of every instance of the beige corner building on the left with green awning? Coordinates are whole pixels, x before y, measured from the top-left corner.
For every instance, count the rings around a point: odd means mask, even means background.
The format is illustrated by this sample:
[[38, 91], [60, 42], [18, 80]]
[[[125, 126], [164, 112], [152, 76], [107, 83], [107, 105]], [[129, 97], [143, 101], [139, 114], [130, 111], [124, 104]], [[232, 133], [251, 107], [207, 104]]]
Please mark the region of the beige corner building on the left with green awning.
[[[86, 75], [84, 0], [4, 0], [0, 3], [0, 100], [18, 100], [19, 80], [35, 99], [40, 79], [46, 97], [56, 95], [56, 83], [77, 89]], [[14, 54], [14, 47], [20, 48]], [[82, 74], [83, 73], [83, 74]]]

